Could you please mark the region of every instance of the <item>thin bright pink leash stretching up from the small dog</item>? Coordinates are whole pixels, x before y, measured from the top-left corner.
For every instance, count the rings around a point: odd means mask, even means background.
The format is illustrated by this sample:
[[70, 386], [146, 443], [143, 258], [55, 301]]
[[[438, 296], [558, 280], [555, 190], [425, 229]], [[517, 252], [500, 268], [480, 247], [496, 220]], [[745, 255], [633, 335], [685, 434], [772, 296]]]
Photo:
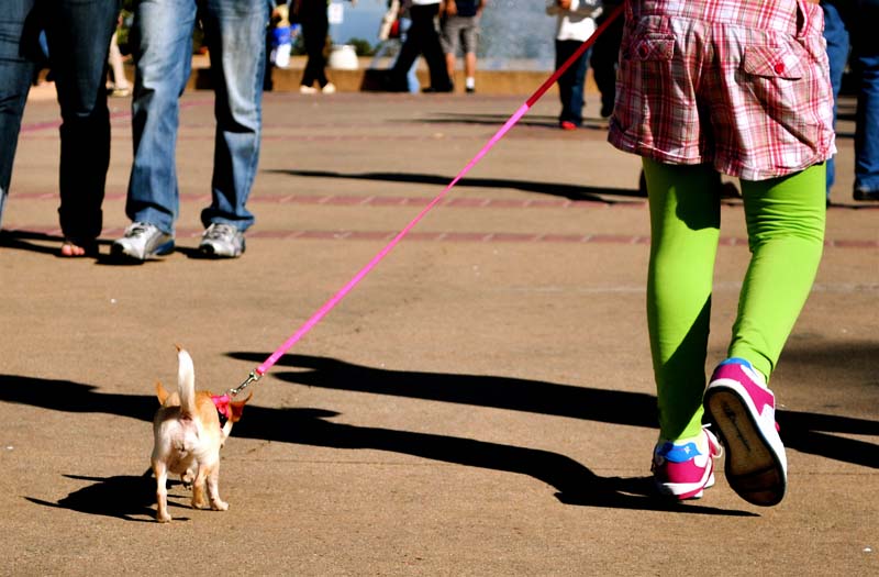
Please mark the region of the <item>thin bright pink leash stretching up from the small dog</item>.
[[500, 127], [500, 130], [494, 134], [494, 136], [492, 136], [491, 140], [488, 141], [488, 143], [482, 147], [482, 149], [479, 151], [477, 155], [474, 156], [472, 159], [470, 159], [469, 163], [467, 163], [467, 166], [465, 166], [460, 173], [458, 173], [458, 176], [456, 176], [452, 180], [452, 182], [449, 182], [448, 186], [446, 186], [446, 188], [436, 196], [436, 198], [434, 198], [426, 207], [424, 207], [424, 209], [421, 212], [419, 212], [419, 214], [414, 219], [412, 219], [412, 221], [409, 224], [407, 224], [405, 228], [403, 228], [403, 230], [401, 230], [397, 234], [397, 236], [394, 236], [387, 244], [387, 246], [385, 246], [385, 248], [379, 251], [378, 254], [374, 256], [372, 259], [369, 260], [369, 263], [367, 263], [365, 267], [363, 267], [356, 275], [354, 275], [354, 277], [351, 280], [348, 280], [345, 284], [344, 287], [342, 287], [342, 289], [338, 290], [338, 292], [333, 295], [333, 297], [330, 300], [327, 300], [320, 309], [318, 309], [318, 311], [314, 314], [312, 314], [311, 318], [308, 321], [305, 321], [302, 324], [302, 326], [300, 326], [292, 335], [290, 335], [290, 337], [287, 341], [285, 341], [285, 343], [281, 346], [279, 346], [278, 349], [271, 354], [271, 356], [265, 359], [262, 365], [256, 367], [256, 369], [252, 371], [251, 375], [247, 377], [247, 380], [245, 380], [234, 389], [230, 389], [226, 392], [232, 397], [234, 397], [238, 395], [242, 390], [244, 390], [252, 382], [259, 380], [259, 378], [263, 375], [265, 375], [268, 371], [268, 369], [270, 369], [275, 365], [275, 363], [278, 362], [280, 357], [282, 357], [296, 343], [298, 343], [303, 336], [305, 336], [305, 334], [308, 334], [309, 331], [311, 331], [315, 324], [321, 322], [321, 320], [324, 317], [326, 317], [326, 314], [329, 314], [330, 311], [332, 311], [335, 308], [335, 306], [338, 304], [340, 301], [342, 301], [342, 299], [344, 299], [348, 295], [348, 292], [351, 292], [354, 289], [354, 287], [356, 287], [360, 282], [360, 280], [363, 280], [364, 277], [368, 275], [369, 271], [371, 271], [376, 267], [376, 265], [378, 265], [388, 255], [388, 253], [390, 253], [393, 249], [393, 247], [397, 246], [397, 244], [400, 241], [403, 240], [403, 237], [407, 234], [409, 234], [409, 231], [411, 231], [415, 226], [415, 224], [421, 222], [421, 220], [427, 214], [427, 212], [430, 212], [436, 204], [439, 203], [439, 201], [442, 201], [446, 197], [448, 191], [452, 190], [452, 187], [458, 184], [458, 181], [461, 178], [464, 178], [464, 176], [467, 173], [469, 173], [470, 169], [474, 166], [476, 166], [477, 163], [479, 163], [479, 160], [481, 160], [482, 157], [486, 156], [486, 154], [488, 154], [488, 152], [492, 147], [494, 147], [498, 141], [500, 141], [504, 136], [504, 134], [507, 134], [510, 131], [510, 129], [512, 129], [520, 121], [520, 119], [522, 119], [522, 116], [525, 115], [525, 112], [527, 112], [531, 109], [531, 107], [533, 107], [534, 103], [537, 102], [537, 100], [539, 100], [546, 93], [547, 90], [549, 90], [549, 88], [556, 82], [556, 80], [558, 80], [558, 77], [565, 74], [565, 70], [567, 70], [577, 58], [579, 58], [587, 49], [589, 49], [590, 46], [592, 46], [592, 44], [594, 44], [596, 40], [620, 15], [620, 12], [623, 10], [623, 5], [624, 4], [617, 5], [613, 10], [613, 12], [611, 12], [611, 14], [608, 16], [608, 20], [602, 22], [601, 25], [596, 30], [596, 32], [592, 33], [592, 35], [589, 36], [589, 38], [586, 40], [580, 45], [579, 48], [577, 48], [577, 52], [575, 52], [570, 56], [570, 58], [568, 58], [565, 62], [565, 64], [563, 64], [558, 68], [558, 70], [553, 73], [553, 75], [549, 78], [547, 78], [543, 85], [541, 85], [541, 87], [531, 96], [531, 98], [528, 98], [525, 101], [525, 103], [522, 104], [519, 108], [519, 110], [516, 110], [513, 113], [512, 116], [510, 116], [510, 119], [503, 124], [503, 126]]

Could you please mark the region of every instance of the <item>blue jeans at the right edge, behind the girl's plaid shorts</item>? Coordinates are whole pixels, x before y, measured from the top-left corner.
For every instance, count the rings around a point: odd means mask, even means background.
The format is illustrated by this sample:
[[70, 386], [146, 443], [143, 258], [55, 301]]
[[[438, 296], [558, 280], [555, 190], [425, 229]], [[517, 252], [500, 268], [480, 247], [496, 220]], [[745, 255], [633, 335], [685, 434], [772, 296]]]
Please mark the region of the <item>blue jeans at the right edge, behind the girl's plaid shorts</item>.
[[[833, 85], [834, 110], [843, 71], [852, 48], [852, 67], [858, 78], [855, 129], [855, 189], [879, 191], [879, 0], [826, 0], [824, 38]], [[827, 163], [827, 193], [835, 179], [834, 162]]]

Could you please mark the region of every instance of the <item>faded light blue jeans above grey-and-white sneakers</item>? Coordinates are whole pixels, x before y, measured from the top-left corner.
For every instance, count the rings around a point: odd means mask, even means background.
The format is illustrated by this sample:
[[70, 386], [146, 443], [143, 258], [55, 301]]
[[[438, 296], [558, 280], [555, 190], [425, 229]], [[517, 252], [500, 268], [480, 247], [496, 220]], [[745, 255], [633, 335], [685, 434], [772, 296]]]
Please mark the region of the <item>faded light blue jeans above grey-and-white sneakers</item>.
[[125, 213], [174, 234], [179, 98], [191, 71], [197, 12], [211, 55], [216, 119], [212, 199], [201, 221], [245, 231], [254, 223], [245, 204], [259, 160], [267, 0], [137, 2], [132, 30], [134, 162]]

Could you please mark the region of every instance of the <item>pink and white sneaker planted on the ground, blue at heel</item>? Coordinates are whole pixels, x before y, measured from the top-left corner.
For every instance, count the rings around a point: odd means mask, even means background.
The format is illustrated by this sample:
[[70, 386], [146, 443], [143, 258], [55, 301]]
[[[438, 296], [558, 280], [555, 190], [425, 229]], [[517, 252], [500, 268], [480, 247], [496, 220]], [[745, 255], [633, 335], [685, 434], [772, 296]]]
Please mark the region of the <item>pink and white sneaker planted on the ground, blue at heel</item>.
[[694, 437], [659, 441], [653, 451], [653, 479], [660, 495], [678, 500], [699, 499], [714, 485], [717, 439], [708, 429]]

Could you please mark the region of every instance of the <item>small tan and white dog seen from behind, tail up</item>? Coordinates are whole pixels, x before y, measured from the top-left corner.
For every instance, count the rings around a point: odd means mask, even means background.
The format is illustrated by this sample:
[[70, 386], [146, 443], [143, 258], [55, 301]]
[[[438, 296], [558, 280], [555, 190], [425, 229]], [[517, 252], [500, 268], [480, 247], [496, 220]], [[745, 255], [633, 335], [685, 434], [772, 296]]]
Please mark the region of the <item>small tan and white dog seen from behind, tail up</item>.
[[241, 420], [244, 404], [251, 400], [231, 401], [227, 396], [213, 396], [196, 391], [196, 370], [189, 353], [177, 347], [178, 392], [168, 392], [156, 382], [156, 396], [162, 407], [153, 420], [153, 473], [156, 476], [156, 520], [167, 523], [168, 474], [180, 475], [183, 482], [192, 484], [192, 507], [207, 506], [207, 487], [211, 509], [225, 511], [229, 503], [220, 499], [220, 448]]

